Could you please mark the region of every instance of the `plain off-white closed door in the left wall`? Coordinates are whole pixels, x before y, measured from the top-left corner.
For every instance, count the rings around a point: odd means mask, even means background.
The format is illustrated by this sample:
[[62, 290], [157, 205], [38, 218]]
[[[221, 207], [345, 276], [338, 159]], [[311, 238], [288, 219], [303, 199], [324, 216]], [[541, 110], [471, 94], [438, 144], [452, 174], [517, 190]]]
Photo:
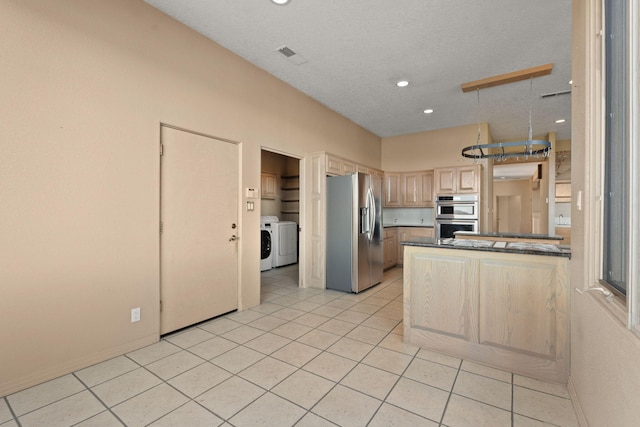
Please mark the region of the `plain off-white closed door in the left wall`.
[[238, 147], [162, 127], [160, 333], [238, 308]]

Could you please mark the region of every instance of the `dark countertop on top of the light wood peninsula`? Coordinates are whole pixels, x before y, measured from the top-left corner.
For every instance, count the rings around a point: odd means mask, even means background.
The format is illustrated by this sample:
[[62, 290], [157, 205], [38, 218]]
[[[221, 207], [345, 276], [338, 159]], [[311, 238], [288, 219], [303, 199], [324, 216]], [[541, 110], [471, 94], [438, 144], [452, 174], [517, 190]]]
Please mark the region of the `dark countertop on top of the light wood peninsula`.
[[422, 246], [426, 248], [463, 249], [470, 251], [503, 252], [509, 254], [545, 255], [571, 258], [571, 249], [567, 246], [549, 243], [494, 242], [491, 240], [440, 239], [415, 237], [402, 241], [404, 246]]

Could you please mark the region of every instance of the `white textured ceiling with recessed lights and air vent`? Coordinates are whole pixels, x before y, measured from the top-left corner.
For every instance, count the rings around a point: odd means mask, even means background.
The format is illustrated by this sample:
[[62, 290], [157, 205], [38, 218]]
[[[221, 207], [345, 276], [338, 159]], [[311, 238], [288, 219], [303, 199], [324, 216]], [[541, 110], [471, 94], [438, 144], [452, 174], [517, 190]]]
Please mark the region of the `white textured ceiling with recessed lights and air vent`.
[[[571, 0], [145, 1], [381, 137], [488, 122], [521, 140], [531, 107], [534, 135], [571, 138], [571, 95], [540, 97], [570, 89]], [[532, 91], [460, 89], [548, 63]]]

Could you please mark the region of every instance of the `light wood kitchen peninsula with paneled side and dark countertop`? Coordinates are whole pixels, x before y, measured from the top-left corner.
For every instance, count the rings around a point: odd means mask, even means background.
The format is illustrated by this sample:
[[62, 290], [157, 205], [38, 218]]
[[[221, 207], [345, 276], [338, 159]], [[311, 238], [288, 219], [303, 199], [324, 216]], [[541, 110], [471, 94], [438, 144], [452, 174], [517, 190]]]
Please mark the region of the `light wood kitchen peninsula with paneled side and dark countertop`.
[[566, 383], [569, 258], [548, 243], [403, 241], [409, 343]]

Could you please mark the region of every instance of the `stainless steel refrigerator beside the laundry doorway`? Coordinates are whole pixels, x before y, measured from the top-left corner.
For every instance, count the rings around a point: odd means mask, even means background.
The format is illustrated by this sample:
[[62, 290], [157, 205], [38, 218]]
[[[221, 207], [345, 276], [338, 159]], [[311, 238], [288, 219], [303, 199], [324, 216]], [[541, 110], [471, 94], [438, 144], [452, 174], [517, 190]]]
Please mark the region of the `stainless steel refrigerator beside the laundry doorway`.
[[360, 292], [382, 281], [382, 177], [327, 177], [327, 289]]

